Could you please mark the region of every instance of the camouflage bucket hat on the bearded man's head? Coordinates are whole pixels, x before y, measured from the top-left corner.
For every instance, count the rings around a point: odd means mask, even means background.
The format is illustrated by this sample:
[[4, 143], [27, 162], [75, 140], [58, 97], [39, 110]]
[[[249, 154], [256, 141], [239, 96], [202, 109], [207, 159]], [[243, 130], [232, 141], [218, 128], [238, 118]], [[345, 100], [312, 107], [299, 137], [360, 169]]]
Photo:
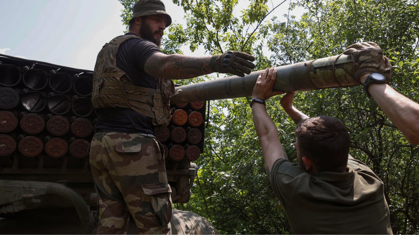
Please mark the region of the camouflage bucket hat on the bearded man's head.
[[172, 18], [166, 12], [166, 8], [161, 0], [139, 0], [134, 5], [134, 9], [132, 10], [132, 18], [130, 19], [130, 21], [138, 16], [155, 14], [165, 15], [166, 27], [171, 25]]

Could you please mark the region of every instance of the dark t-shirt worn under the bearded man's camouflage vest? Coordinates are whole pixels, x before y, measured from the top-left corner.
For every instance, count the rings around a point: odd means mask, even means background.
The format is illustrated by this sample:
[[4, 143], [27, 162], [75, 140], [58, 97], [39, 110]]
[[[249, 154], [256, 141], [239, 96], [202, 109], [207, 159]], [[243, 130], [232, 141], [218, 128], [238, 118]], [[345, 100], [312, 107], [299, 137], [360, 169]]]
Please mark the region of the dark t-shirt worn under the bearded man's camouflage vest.
[[[126, 33], [129, 35], [134, 33]], [[116, 66], [127, 74], [135, 86], [156, 89], [157, 79], [144, 72], [144, 64], [154, 53], [161, 52], [153, 42], [132, 38], [125, 41], [116, 54]], [[96, 128], [106, 132], [139, 133], [154, 135], [153, 123], [129, 108], [106, 107], [96, 110]]]

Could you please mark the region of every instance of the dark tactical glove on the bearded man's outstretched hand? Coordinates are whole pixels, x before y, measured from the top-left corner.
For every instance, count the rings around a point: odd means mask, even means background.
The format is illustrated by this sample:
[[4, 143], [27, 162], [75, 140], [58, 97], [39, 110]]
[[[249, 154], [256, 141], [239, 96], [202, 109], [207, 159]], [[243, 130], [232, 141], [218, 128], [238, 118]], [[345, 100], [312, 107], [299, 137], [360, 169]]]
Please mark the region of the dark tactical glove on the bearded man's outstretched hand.
[[255, 65], [250, 62], [254, 60], [255, 57], [251, 54], [240, 51], [227, 51], [221, 55], [212, 56], [210, 66], [213, 72], [229, 73], [244, 77], [244, 74], [250, 74], [250, 69], [255, 68]]

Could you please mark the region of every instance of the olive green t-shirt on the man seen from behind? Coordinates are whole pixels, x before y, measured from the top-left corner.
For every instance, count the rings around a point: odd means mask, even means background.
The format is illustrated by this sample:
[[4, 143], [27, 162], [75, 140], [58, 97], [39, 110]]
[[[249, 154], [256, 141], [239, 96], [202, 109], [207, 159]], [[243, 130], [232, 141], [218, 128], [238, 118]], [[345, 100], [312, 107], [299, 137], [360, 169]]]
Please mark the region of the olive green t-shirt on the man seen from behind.
[[361, 161], [348, 159], [344, 173], [311, 175], [278, 159], [271, 172], [295, 234], [392, 234], [383, 182]]

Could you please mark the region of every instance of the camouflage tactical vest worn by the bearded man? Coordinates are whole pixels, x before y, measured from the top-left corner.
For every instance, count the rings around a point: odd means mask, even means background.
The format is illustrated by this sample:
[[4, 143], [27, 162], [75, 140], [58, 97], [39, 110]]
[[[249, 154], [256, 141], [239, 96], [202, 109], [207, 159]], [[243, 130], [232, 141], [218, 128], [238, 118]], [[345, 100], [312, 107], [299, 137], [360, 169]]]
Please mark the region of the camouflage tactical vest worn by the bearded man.
[[171, 120], [170, 98], [175, 93], [171, 79], [158, 78], [158, 88], [134, 86], [124, 71], [116, 67], [119, 46], [136, 35], [112, 39], [101, 49], [93, 73], [92, 103], [95, 108], [124, 107], [153, 119], [153, 125], [167, 126]]

